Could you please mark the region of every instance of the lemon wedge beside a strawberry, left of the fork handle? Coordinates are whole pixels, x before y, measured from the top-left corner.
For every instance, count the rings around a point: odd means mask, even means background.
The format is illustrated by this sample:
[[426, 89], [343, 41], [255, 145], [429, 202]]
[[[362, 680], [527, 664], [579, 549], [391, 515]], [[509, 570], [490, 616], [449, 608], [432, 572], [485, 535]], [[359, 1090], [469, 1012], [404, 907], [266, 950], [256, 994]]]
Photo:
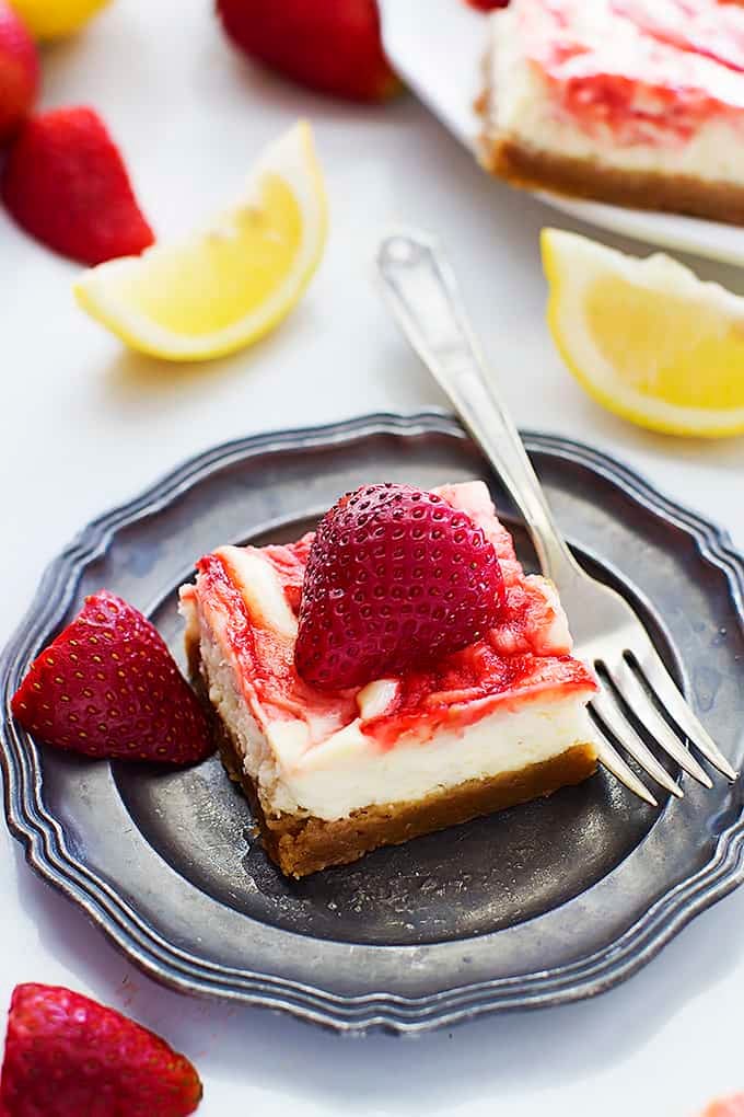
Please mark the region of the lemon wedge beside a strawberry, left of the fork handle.
[[75, 295], [143, 353], [223, 356], [261, 337], [297, 303], [322, 255], [326, 227], [312, 133], [300, 122], [260, 156], [245, 197], [207, 228], [91, 268]]

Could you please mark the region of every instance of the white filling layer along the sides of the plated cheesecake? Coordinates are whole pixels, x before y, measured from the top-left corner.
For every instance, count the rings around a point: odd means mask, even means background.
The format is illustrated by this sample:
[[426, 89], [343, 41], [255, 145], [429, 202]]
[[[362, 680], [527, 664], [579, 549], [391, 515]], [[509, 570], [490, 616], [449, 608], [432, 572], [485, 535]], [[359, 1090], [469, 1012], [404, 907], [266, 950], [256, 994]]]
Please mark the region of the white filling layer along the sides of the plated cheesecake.
[[431, 739], [403, 739], [394, 748], [364, 734], [359, 719], [308, 748], [300, 720], [272, 722], [261, 731], [205, 626], [201, 655], [210, 700], [270, 814], [346, 818], [364, 806], [422, 800], [470, 780], [516, 772], [592, 741], [588, 695], [572, 691], [552, 700], [522, 700], [463, 731], [441, 729]]

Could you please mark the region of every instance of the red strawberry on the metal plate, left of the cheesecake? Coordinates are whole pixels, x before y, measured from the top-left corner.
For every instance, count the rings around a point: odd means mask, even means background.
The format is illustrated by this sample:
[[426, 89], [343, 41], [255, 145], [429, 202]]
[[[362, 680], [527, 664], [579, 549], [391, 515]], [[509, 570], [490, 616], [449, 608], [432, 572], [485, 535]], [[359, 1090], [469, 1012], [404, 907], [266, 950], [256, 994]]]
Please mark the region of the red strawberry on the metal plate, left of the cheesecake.
[[21, 725], [86, 756], [189, 764], [213, 752], [204, 713], [158, 631], [102, 590], [31, 663]]

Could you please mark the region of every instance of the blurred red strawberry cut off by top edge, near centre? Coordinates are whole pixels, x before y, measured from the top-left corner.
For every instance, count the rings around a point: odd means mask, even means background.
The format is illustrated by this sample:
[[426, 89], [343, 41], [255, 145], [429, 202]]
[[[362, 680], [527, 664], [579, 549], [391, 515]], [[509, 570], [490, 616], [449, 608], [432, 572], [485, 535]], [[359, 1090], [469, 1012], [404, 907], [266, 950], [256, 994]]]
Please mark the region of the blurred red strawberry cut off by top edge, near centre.
[[218, 11], [247, 55], [311, 89], [384, 101], [399, 88], [377, 0], [218, 0]]

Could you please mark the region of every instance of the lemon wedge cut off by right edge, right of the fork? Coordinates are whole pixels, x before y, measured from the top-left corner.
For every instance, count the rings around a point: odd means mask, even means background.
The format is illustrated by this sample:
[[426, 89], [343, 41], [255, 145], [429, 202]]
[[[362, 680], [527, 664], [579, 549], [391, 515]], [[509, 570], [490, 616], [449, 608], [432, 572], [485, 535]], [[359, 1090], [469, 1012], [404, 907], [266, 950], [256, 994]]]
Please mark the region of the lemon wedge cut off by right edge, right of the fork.
[[599, 403], [668, 435], [744, 431], [744, 298], [663, 254], [543, 229], [548, 324]]

